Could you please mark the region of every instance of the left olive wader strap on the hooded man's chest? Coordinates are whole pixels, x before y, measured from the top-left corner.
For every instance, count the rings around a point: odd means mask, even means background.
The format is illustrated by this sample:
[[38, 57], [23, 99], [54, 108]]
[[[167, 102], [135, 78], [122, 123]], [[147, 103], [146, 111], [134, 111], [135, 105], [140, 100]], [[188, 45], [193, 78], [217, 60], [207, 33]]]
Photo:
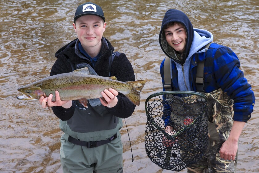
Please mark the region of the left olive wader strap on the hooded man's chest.
[[166, 91], [172, 91], [171, 87], [171, 58], [166, 57], [165, 63], [164, 63], [164, 80], [165, 85], [164, 88]]

